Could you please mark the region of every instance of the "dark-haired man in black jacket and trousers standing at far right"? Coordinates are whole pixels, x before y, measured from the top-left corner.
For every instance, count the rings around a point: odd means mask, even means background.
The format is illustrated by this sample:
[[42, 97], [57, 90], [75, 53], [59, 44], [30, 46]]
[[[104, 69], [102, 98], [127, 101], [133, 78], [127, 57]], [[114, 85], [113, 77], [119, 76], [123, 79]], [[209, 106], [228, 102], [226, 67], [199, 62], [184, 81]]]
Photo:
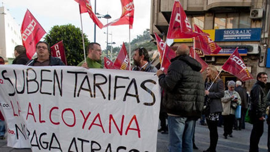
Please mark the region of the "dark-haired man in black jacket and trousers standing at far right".
[[258, 152], [260, 137], [264, 132], [264, 115], [266, 111], [266, 97], [264, 94], [267, 83], [267, 73], [257, 74], [257, 81], [250, 91], [250, 117], [253, 121], [253, 128], [249, 140], [249, 152]]

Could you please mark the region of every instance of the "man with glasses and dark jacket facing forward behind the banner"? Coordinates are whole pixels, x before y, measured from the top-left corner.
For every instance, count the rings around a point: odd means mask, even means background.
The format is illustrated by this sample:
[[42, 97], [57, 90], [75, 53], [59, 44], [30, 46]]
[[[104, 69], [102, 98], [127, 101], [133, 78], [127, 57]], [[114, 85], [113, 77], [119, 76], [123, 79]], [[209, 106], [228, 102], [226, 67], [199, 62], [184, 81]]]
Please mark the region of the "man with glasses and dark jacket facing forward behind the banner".
[[37, 58], [28, 61], [29, 66], [65, 65], [60, 58], [50, 55], [51, 49], [47, 42], [39, 41], [36, 45]]

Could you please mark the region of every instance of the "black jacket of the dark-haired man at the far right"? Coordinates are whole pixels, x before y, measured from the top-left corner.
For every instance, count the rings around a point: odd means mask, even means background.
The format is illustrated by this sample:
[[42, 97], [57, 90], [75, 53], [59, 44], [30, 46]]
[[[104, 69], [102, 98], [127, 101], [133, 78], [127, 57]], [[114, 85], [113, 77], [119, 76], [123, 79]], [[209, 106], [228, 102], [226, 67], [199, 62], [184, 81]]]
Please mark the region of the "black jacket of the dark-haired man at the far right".
[[263, 88], [265, 84], [257, 80], [250, 91], [250, 114], [256, 120], [264, 116], [266, 111], [266, 96]]

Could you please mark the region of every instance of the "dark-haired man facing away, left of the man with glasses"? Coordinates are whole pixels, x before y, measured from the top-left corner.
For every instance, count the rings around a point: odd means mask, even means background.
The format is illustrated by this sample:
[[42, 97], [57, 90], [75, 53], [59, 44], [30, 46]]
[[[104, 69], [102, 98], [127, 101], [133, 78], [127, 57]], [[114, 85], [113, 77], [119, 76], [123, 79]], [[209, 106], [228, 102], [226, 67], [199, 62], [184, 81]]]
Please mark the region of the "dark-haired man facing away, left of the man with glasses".
[[22, 45], [15, 46], [14, 56], [15, 56], [15, 59], [13, 60], [12, 64], [25, 65], [29, 61], [29, 58], [26, 55], [26, 49]]

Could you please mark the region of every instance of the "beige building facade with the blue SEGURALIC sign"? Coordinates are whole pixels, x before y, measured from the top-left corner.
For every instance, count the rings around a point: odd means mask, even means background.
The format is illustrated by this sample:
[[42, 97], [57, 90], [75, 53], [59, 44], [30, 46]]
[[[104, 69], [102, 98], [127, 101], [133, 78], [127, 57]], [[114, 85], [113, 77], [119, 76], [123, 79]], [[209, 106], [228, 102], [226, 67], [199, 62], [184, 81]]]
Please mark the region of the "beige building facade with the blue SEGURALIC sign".
[[[254, 77], [254, 80], [245, 82], [248, 90], [254, 84], [257, 73], [269, 73], [269, 0], [181, 0], [180, 3], [192, 28], [196, 24], [209, 33], [211, 39], [222, 48], [217, 55], [209, 56], [197, 50], [208, 64], [213, 64], [221, 70], [234, 49], [239, 47], [239, 53]], [[151, 0], [152, 36], [156, 32], [166, 40], [173, 4], [174, 0]], [[168, 39], [167, 43], [172, 47], [183, 43], [193, 46], [192, 39]], [[228, 72], [222, 72], [221, 78], [224, 83], [237, 80]]]

